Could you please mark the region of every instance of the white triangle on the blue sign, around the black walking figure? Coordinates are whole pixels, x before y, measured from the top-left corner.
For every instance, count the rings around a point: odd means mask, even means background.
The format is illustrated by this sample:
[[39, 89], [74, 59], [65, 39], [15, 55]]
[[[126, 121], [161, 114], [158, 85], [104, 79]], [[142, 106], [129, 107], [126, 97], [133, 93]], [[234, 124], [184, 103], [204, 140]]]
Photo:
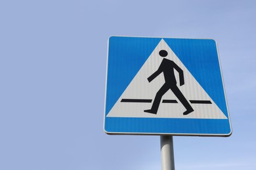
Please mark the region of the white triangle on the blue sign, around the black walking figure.
[[[189, 103], [194, 109], [190, 114], [183, 115], [186, 109], [171, 90], [163, 95], [161, 101], [175, 100], [177, 103], [161, 102], [157, 114], [144, 112], [144, 110], [151, 109], [156, 93], [165, 83], [163, 73], [154, 78], [152, 82], [148, 82], [147, 80], [147, 78], [160, 67], [161, 61], [163, 60], [159, 55], [160, 50], [166, 50], [168, 55], [165, 58], [174, 61], [183, 71], [183, 86], [179, 86], [179, 73], [177, 71], [175, 71], [175, 78], [179, 90], [181, 90], [184, 97], [190, 101]], [[152, 101], [142, 103], [121, 102], [122, 99], [144, 99]], [[192, 103], [192, 101], [211, 101], [211, 103]], [[200, 86], [194, 76], [186, 69], [181, 60], [163, 39], [161, 39], [158, 46], [156, 46], [152, 54], [150, 54], [144, 65], [142, 65], [129, 86], [127, 86], [125, 91], [121, 94], [121, 97], [119, 97], [114, 107], [108, 112], [107, 117], [227, 119], [221, 109], [217, 107], [215, 102], [209, 97], [205, 90], [203, 90], [202, 86]]]

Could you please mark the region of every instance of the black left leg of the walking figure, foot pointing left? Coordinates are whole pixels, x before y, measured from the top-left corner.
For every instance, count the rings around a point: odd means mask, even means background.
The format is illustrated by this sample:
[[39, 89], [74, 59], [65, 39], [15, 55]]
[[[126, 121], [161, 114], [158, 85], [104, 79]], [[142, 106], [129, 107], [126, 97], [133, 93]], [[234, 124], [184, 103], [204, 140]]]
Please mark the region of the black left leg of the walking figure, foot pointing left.
[[150, 112], [153, 114], [156, 114], [158, 112], [158, 107], [160, 105], [161, 102], [161, 97], [163, 97], [163, 95], [170, 89], [169, 86], [167, 86], [167, 84], [163, 84], [163, 86], [161, 86], [160, 90], [158, 90], [158, 92], [156, 93], [156, 97], [154, 99], [153, 105], [151, 107], [151, 109], [149, 110], [144, 110], [144, 112]]

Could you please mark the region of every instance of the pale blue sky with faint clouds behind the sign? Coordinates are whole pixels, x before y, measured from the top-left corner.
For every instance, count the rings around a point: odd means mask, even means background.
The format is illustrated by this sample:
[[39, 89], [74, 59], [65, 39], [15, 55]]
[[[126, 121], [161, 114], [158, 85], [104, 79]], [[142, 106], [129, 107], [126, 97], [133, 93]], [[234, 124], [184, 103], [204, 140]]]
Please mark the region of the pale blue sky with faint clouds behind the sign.
[[176, 169], [255, 169], [255, 1], [1, 1], [0, 169], [160, 169], [160, 137], [103, 131], [112, 35], [211, 38], [231, 137], [174, 137]]

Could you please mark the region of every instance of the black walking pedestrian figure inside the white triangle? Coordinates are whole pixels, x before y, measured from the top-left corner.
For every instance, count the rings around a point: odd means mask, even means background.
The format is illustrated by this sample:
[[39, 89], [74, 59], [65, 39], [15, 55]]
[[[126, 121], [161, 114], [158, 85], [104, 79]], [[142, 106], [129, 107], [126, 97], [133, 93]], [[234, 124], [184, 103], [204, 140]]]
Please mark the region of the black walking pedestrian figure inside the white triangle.
[[165, 78], [165, 84], [163, 84], [160, 90], [156, 93], [156, 97], [154, 99], [151, 109], [144, 110], [144, 112], [156, 114], [158, 112], [158, 107], [161, 102], [161, 97], [169, 89], [171, 89], [171, 91], [176, 95], [179, 101], [181, 101], [182, 105], [186, 108], [186, 111], [183, 112], [184, 115], [189, 114], [190, 112], [193, 112], [194, 109], [192, 109], [192, 107], [190, 106], [190, 104], [188, 103], [184, 95], [181, 93], [181, 91], [177, 87], [177, 81], [174, 75], [174, 69], [179, 72], [180, 86], [184, 85], [184, 75], [183, 75], [182, 69], [173, 61], [164, 58], [168, 55], [167, 51], [161, 50], [159, 54], [161, 57], [163, 57], [163, 61], [161, 61], [161, 65], [158, 68], [158, 70], [148, 77], [148, 82], [151, 82], [152, 80], [154, 80], [154, 78], [156, 78], [156, 76], [160, 75], [160, 73], [163, 72], [163, 76]]

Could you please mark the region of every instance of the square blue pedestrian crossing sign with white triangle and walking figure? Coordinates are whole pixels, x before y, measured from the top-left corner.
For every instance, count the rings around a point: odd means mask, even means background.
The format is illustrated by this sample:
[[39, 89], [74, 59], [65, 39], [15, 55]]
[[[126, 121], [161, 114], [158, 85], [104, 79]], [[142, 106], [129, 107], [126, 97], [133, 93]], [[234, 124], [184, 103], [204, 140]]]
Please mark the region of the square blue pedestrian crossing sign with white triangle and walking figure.
[[229, 136], [216, 42], [110, 37], [108, 134]]

